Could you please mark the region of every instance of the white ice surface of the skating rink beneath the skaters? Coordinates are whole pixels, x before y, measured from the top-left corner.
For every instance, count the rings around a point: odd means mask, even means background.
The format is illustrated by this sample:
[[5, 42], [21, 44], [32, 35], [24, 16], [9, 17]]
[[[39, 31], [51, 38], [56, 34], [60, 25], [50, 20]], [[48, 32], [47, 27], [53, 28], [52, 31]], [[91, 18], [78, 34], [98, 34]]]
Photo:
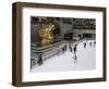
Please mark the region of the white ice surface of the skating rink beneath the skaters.
[[[86, 48], [84, 49], [84, 42]], [[60, 72], [60, 71], [88, 71], [96, 68], [96, 48], [94, 40], [84, 40], [77, 43], [77, 62], [74, 61], [74, 53], [69, 49], [64, 54], [52, 56], [44, 62], [43, 65], [34, 66], [32, 72]]]

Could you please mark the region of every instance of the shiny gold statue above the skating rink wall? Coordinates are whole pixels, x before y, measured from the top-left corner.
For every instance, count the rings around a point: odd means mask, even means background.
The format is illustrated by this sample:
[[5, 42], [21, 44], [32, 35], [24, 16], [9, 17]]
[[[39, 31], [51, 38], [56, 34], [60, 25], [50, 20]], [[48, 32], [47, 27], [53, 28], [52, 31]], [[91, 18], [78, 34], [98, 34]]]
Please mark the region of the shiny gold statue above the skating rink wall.
[[41, 38], [41, 46], [46, 46], [53, 42], [52, 28], [55, 25], [51, 23], [47, 27], [39, 30], [39, 36]]

